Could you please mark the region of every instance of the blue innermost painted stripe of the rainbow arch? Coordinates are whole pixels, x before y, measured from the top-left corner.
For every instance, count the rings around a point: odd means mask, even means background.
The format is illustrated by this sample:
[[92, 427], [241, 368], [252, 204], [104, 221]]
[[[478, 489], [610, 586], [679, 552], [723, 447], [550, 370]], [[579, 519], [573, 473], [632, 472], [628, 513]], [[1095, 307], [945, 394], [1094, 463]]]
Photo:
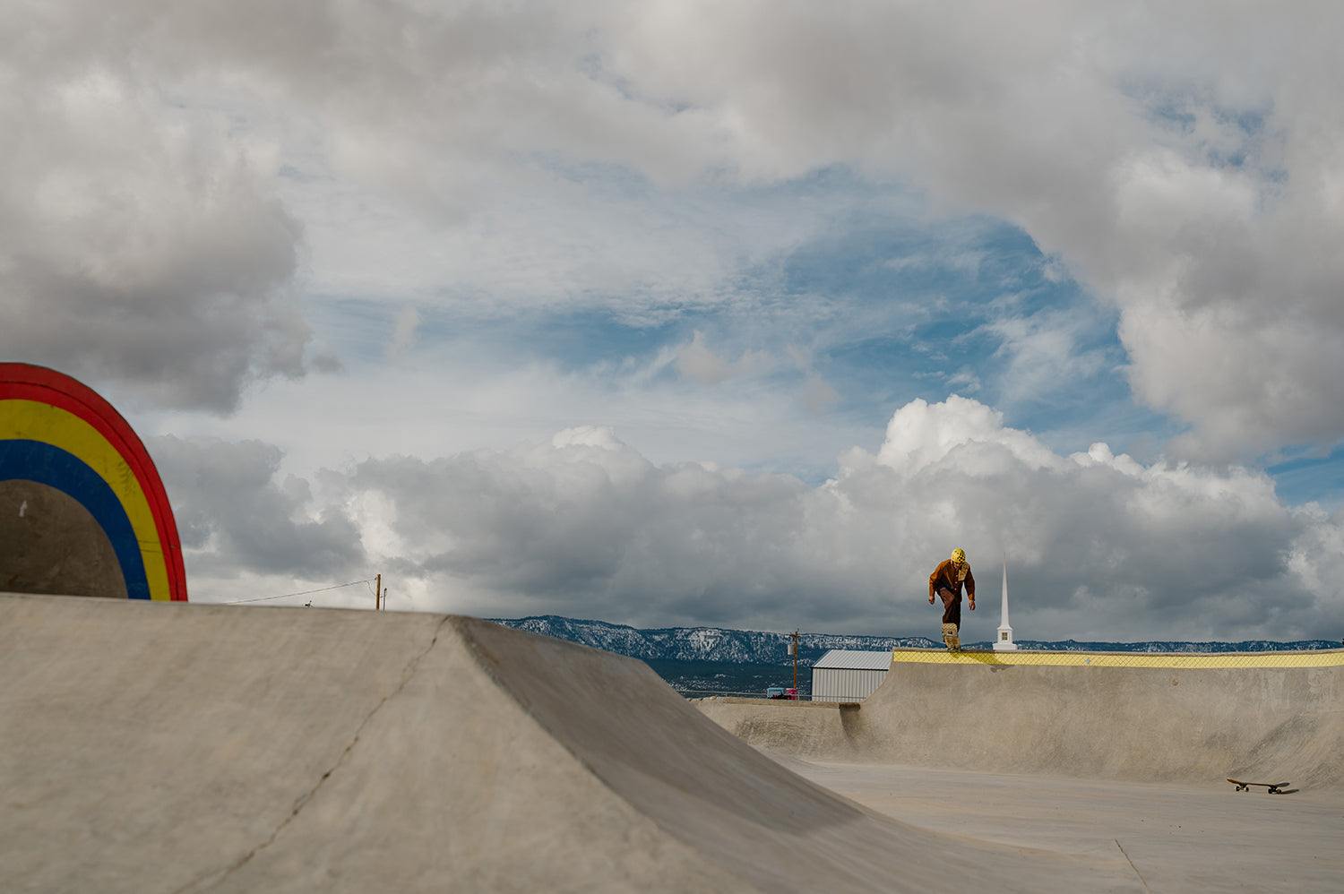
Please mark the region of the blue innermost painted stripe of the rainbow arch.
[[46, 484], [77, 500], [98, 522], [121, 563], [126, 596], [149, 598], [149, 578], [140, 540], [121, 500], [89, 465], [58, 446], [42, 441], [0, 441], [0, 481], [20, 479]]

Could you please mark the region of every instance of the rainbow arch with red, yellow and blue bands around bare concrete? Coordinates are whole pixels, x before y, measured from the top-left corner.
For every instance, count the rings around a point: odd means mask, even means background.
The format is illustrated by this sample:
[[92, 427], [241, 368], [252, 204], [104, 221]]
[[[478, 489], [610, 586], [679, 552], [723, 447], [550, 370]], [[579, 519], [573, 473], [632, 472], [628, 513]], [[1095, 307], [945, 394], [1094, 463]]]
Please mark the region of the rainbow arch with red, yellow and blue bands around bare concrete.
[[[0, 497], [5, 495], [0, 592], [58, 593], [50, 581], [73, 579], [60, 577], [62, 567], [110, 546], [116, 562], [109, 558], [85, 578], [120, 573], [112, 589], [65, 594], [187, 601], [181, 542], [159, 471], [130, 425], [87, 386], [46, 367], [0, 363]], [[34, 528], [24, 519], [30, 503], [60, 510], [48, 512], [56, 520], [46, 523], [40, 538], [27, 534]], [[39, 566], [55, 569], [43, 578], [47, 583], [32, 571]]]

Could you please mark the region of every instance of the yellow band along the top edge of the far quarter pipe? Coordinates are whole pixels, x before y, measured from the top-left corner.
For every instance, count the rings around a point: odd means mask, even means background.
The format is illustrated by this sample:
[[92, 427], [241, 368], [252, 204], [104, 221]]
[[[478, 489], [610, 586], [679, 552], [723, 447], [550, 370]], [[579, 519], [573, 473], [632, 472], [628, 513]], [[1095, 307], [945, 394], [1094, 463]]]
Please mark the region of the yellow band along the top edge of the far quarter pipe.
[[948, 652], [946, 649], [894, 649], [891, 660], [903, 664], [991, 664], [997, 667], [1344, 667], [1344, 649], [1312, 652], [1208, 652], [1175, 655], [1153, 652]]

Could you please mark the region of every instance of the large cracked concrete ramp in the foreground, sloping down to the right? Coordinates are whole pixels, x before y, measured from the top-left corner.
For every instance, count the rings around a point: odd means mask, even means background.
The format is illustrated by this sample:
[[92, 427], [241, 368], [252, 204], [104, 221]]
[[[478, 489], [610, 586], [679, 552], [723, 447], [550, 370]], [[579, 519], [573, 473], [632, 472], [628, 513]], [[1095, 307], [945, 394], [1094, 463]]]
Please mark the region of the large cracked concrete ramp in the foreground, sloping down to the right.
[[878, 816], [453, 616], [0, 597], [4, 891], [1137, 890]]

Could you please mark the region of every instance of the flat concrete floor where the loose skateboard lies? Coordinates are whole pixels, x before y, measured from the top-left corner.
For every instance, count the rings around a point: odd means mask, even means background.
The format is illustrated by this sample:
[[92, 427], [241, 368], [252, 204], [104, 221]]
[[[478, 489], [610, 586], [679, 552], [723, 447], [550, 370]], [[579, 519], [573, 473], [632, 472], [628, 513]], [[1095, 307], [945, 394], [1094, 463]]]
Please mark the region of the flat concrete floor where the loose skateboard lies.
[[1344, 890], [1339, 793], [1267, 795], [1236, 792], [1226, 782], [1156, 785], [788, 758], [786, 765], [923, 829], [1128, 863], [1140, 890]]

